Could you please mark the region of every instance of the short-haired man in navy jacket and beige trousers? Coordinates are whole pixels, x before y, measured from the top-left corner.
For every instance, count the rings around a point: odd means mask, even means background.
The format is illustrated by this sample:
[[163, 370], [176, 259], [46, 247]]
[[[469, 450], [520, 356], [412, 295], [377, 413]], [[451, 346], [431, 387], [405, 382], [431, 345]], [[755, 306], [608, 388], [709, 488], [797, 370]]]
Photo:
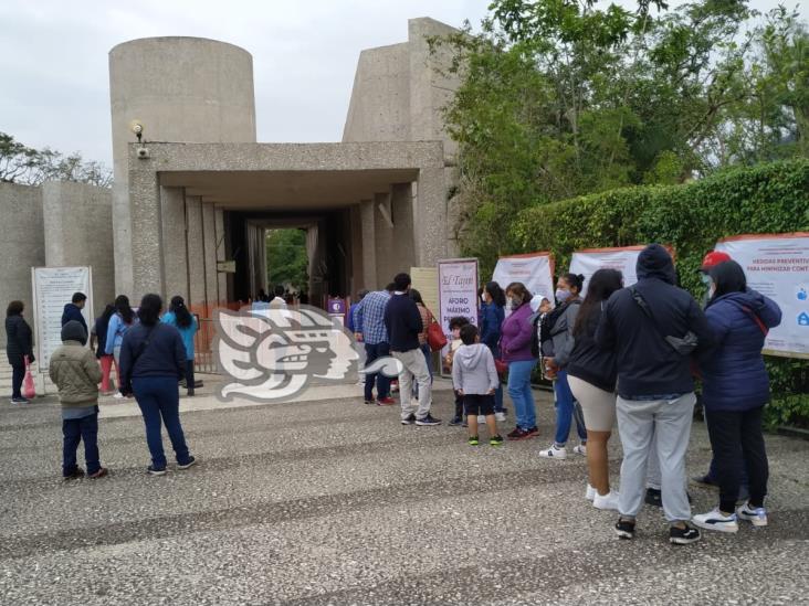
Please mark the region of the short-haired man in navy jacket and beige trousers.
[[[393, 295], [385, 308], [385, 328], [390, 338], [390, 353], [401, 362], [399, 397], [402, 425], [440, 425], [441, 419], [430, 414], [432, 387], [424, 354], [419, 347], [419, 332], [424, 327], [416, 301], [410, 298], [410, 276], [397, 274]], [[419, 405], [412, 404], [413, 380], [419, 384]]]

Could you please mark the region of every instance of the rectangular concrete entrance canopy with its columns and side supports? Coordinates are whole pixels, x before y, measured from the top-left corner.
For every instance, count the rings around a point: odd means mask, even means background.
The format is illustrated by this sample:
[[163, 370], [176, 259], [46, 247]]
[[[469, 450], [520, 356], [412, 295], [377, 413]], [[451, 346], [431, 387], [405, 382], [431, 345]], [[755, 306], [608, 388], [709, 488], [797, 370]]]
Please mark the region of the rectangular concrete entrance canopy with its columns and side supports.
[[322, 276], [335, 293], [384, 286], [396, 272], [446, 255], [442, 141], [144, 146], [148, 158], [138, 143], [128, 155], [136, 299], [156, 291], [208, 305], [233, 300], [217, 262], [261, 241], [248, 234], [244, 244], [231, 242], [251, 225], [317, 225], [311, 267], [342, 257]]

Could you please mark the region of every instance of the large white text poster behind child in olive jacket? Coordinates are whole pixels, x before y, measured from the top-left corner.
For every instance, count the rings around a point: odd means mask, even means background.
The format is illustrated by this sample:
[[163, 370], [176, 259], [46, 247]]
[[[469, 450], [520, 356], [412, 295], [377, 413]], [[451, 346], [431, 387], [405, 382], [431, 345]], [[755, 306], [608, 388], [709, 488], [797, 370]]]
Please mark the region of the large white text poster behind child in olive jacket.
[[87, 326], [93, 326], [93, 274], [90, 267], [33, 267], [34, 318], [36, 323], [36, 359], [41, 373], [48, 372], [51, 354], [62, 344], [62, 312], [74, 293], [84, 293], [82, 309]]

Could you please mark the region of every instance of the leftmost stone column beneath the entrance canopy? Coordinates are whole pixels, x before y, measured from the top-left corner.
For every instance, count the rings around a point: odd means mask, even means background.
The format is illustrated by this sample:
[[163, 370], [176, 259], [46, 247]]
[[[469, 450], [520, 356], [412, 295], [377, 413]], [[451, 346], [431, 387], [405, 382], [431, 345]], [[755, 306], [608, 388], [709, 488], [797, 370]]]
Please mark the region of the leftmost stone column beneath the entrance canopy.
[[182, 188], [160, 188], [162, 215], [162, 255], [166, 299], [188, 295], [188, 251], [186, 248], [186, 199]]

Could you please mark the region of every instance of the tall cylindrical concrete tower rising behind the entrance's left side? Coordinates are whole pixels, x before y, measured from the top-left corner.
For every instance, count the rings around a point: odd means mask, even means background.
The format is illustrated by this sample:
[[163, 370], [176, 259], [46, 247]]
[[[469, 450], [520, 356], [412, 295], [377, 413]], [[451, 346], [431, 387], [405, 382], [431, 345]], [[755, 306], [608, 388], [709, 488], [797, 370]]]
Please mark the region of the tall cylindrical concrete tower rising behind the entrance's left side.
[[201, 38], [146, 38], [109, 51], [116, 291], [132, 294], [127, 143], [132, 120], [146, 141], [255, 142], [253, 59]]

